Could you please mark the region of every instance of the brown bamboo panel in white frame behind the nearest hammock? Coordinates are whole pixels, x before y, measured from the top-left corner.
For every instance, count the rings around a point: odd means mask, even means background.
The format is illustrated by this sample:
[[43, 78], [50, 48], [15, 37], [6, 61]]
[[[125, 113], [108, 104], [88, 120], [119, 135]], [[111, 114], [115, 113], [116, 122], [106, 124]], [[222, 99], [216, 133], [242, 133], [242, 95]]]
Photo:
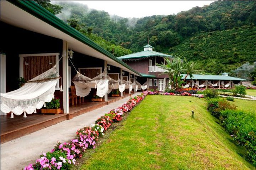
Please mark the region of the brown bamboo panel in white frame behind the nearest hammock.
[[[52, 63], [52, 64], [49, 64]], [[28, 65], [26, 65], [28, 63]], [[26, 81], [46, 72], [56, 64], [56, 56], [24, 57], [23, 76]]]

